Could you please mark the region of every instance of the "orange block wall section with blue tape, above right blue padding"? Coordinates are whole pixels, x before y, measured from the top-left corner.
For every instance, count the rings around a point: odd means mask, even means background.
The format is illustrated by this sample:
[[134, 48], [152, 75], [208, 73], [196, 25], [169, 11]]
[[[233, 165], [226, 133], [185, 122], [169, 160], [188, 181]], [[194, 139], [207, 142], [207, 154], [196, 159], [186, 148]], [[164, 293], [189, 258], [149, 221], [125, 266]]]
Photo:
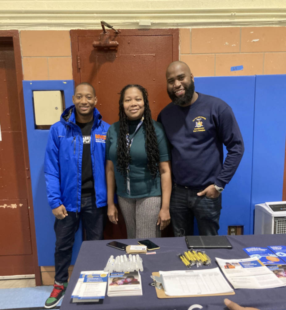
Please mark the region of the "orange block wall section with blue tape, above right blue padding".
[[180, 60], [194, 76], [285, 74], [286, 27], [180, 29]]

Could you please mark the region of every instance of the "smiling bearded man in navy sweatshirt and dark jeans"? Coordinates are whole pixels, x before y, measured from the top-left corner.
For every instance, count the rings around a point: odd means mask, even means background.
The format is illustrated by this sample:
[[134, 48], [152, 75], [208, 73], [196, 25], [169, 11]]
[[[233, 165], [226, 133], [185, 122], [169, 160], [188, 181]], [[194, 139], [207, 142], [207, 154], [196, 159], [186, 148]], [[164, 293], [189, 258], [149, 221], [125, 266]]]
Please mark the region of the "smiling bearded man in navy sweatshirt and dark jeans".
[[[244, 153], [239, 126], [228, 104], [194, 91], [194, 76], [184, 62], [172, 62], [166, 78], [172, 102], [158, 121], [172, 146], [174, 235], [193, 235], [194, 217], [200, 235], [217, 235], [221, 192]], [[228, 152], [224, 162], [223, 144]]]

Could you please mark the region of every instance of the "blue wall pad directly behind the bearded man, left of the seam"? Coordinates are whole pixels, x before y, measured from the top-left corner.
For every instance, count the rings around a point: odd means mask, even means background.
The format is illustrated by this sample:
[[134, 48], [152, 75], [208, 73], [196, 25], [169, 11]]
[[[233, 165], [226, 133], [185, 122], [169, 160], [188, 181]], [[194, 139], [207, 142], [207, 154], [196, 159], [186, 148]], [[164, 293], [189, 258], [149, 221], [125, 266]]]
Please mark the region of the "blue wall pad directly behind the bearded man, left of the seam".
[[[222, 193], [220, 230], [243, 225], [250, 232], [250, 197], [254, 119], [255, 76], [195, 78], [196, 91], [221, 98], [232, 108], [244, 140], [244, 155], [239, 167]], [[226, 148], [224, 148], [226, 156]]]

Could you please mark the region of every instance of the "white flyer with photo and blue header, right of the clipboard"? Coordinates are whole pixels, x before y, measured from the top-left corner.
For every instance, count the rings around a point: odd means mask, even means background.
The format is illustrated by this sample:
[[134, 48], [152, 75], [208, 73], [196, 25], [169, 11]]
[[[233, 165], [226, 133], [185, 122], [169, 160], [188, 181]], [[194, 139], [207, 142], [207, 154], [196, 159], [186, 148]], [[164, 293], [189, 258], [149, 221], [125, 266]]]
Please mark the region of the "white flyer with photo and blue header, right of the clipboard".
[[262, 289], [285, 286], [260, 260], [255, 258], [221, 259], [217, 263], [235, 289]]

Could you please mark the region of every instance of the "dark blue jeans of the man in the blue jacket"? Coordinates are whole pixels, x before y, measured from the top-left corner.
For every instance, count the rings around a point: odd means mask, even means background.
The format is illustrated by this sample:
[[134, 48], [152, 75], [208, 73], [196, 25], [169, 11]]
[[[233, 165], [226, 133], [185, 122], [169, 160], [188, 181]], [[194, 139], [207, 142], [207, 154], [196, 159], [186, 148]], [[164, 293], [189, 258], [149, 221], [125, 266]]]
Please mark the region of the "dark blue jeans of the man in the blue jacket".
[[80, 220], [86, 230], [87, 240], [101, 240], [107, 218], [107, 207], [96, 207], [95, 197], [82, 197], [80, 212], [69, 212], [64, 219], [56, 219], [55, 280], [65, 282], [69, 278], [68, 268], [71, 262], [74, 235]]

